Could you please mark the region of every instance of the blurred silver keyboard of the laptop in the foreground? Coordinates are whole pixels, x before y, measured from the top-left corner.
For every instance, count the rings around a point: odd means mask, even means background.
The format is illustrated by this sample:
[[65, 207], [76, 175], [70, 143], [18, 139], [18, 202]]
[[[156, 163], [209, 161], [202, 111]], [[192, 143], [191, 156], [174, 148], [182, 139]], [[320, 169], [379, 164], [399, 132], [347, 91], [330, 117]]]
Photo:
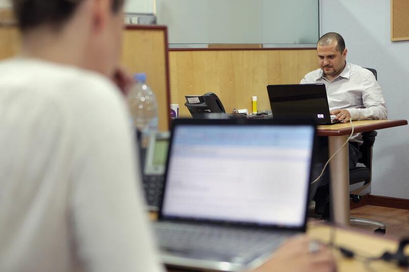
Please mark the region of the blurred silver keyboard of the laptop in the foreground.
[[[278, 248], [285, 235], [254, 229], [156, 223], [155, 232], [162, 250], [174, 253], [211, 253], [236, 262], [252, 260], [260, 253]], [[239, 258], [239, 259], [237, 259]]]

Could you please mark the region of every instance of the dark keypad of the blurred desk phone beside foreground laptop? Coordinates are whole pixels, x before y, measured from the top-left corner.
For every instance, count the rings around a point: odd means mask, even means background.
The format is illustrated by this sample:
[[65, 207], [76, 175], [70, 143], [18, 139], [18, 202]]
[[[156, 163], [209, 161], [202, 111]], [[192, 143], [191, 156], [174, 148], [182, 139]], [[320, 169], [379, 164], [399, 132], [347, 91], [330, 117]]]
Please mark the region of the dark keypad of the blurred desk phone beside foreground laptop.
[[163, 194], [163, 175], [144, 175], [145, 200], [150, 211], [157, 211]]

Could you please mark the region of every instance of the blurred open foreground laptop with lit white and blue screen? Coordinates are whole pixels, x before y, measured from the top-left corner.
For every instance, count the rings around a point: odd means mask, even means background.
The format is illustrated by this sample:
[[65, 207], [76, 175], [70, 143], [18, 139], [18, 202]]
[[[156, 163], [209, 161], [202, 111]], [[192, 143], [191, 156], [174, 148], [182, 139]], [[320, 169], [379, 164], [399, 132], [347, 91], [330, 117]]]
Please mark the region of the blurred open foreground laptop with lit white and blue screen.
[[154, 223], [168, 266], [243, 271], [304, 232], [311, 122], [175, 119]]

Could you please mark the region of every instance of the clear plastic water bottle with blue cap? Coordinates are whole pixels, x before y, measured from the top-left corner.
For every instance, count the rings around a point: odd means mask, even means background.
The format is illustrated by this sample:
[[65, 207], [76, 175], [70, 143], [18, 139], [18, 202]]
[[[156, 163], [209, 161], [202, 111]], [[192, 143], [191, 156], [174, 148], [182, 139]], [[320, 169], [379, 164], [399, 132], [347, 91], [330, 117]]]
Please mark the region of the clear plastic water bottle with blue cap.
[[146, 85], [146, 74], [137, 73], [137, 82], [128, 94], [128, 104], [133, 126], [142, 133], [142, 137], [157, 131], [157, 103], [153, 91]]

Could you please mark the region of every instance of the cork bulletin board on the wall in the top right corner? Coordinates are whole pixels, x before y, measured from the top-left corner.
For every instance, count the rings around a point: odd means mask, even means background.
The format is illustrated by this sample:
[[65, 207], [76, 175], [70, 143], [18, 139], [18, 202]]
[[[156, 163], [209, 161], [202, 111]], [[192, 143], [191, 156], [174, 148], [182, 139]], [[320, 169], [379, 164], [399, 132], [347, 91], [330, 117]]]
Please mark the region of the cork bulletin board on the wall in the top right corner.
[[409, 1], [391, 0], [391, 40], [409, 40]]

